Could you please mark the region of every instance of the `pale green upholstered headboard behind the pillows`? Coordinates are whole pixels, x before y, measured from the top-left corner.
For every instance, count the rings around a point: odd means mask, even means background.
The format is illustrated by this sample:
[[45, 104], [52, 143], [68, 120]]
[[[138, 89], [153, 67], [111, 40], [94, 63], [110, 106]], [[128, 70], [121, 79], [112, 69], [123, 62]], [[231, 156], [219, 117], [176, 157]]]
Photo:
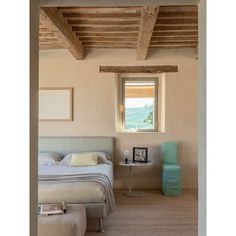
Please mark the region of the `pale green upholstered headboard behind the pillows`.
[[63, 155], [75, 152], [106, 152], [114, 161], [114, 137], [39, 137], [40, 152], [58, 152]]

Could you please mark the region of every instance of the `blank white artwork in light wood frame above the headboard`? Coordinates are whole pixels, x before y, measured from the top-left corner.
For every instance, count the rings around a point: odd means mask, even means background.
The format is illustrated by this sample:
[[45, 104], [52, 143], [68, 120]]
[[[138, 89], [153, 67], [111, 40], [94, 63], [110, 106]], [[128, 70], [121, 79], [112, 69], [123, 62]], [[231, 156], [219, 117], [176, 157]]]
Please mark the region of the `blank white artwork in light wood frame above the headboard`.
[[39, 120], [72, 121], [73, 88], [40, 88]]

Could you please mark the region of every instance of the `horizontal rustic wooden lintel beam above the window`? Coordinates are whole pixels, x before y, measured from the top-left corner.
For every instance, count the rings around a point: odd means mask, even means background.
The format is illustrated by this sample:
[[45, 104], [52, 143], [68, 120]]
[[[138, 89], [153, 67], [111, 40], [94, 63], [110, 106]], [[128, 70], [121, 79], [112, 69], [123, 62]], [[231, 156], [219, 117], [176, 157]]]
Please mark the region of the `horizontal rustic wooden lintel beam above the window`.
[[178, 66], [99, 66], [99, 72], [104, 73], [163, 73], [178, 72]]

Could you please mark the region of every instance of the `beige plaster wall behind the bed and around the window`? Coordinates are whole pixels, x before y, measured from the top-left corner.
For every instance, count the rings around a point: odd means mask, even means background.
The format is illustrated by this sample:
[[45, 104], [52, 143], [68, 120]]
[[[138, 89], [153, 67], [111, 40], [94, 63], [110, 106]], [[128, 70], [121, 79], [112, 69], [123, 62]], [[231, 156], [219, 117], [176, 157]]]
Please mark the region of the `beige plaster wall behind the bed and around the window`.
[[[120, 167], [124, 149], [147, 146], [154, 165], [133, 172], [136, 188], [161, 187], [160, 143], [179, 142], [183, 187], [197, 188], [197, 63], [193, 49], [155, 50], [146, 61], [135, 60], [135, 50], [97, 49], [83, 61], [66, 50], [40, 52], [40, 87], [74, 88], [73, 122], [40, 122], [40, 136], [115, 136], [115, 187], [127, 187], [128, 170]], [[115, 132], [115, 81], [113, 74], [99, 73], [99, 65], [178, 65], [178, 73], [166, 74], [165, 133]]]

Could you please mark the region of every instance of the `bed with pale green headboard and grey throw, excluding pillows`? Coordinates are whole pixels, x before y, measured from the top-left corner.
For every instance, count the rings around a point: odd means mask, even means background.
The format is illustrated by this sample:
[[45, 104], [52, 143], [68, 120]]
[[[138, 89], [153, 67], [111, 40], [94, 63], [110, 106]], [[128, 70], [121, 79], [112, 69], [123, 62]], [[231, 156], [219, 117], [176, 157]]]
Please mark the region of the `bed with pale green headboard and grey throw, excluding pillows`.
[[39, 152], [56, 152], [62, 156], [78, 152], [106, 153], [110, 160], [97, 166], [69, 167], [64, 164], [39, 166], [39, 203], [84, 204], [88, 218], [102, 220], [114, 211], [113, 137], [40, 137]]

